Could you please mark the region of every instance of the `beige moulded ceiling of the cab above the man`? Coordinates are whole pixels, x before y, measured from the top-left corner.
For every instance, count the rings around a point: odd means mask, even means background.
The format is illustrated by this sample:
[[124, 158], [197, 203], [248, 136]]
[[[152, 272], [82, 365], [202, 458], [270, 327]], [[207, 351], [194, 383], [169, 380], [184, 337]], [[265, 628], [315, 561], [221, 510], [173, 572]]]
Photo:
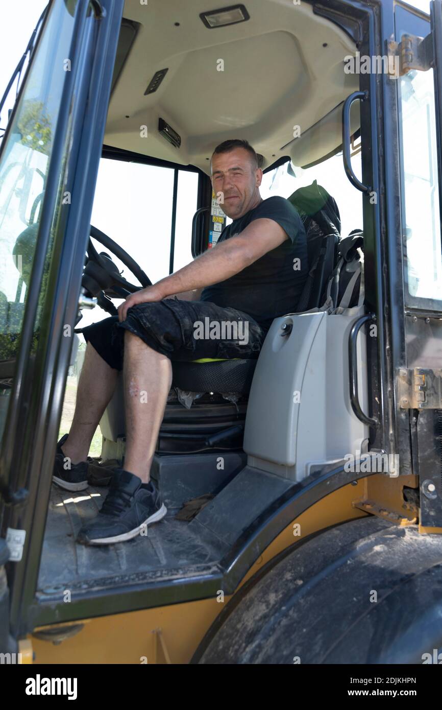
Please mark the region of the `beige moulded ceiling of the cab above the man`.
[[[126, 0], [123, 18], [138, 31], [111, 93], [106, 145], [206, 173], [211, 153], [227, 138], [246, 138], [264, 156], [263, 167], [282, 155], [306, 165], [338, 146], [336, 107], [358, 89], [358, 77], [344, 72], [353, 41], [305, 2], [243, 4], [250, 19], [209, 29], [199, 15], [222, 9], [217, 2]], [[163, 69], [156, 92], [145, 95]], [[158, 132], [160, 118], [181, 136], [179, 148]], [[147, 137], [140, 126], [147, 126]], [[294, 126], [301, 138], [294, 139]]]

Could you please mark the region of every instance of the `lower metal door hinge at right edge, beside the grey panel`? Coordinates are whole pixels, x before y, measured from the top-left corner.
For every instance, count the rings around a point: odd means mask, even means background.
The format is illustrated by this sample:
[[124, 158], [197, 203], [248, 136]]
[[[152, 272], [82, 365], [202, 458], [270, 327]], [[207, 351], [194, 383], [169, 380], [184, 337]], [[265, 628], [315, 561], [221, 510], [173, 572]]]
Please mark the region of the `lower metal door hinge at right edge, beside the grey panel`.
[[442, 409], [442, 369], [401, 368], [398, 390], [401, 409]]

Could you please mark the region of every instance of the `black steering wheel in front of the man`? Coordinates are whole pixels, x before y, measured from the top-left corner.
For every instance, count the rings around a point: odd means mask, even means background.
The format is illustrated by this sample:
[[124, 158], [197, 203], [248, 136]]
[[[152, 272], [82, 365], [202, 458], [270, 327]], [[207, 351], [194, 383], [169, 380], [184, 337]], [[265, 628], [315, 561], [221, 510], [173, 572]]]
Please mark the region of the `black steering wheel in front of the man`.
[[87, 245], [87, 258], [84, 263], [84, 272], [82, 277], [82, 287], [86, 290], [87, 295], [96, 297], [97, 304], [111, 315], [116, 315], [117, 310], [111, 302], [111, 298], [126, 298], [131, 293], [151, 286], [150, 278], [144, 273], [143, 269], [138, 266], [138, 263], [124, 251], [116, 241], [104, 234], [103, 231], [92, 226], [90, 234], [96, 241], [99, 241], [106, 249], [109, 249], [120, 261], [123, 262], [129, 271], [136, 276], [140, 286], [130, 283], [126, 278], [121, 276], [118, 267], [112, 261], [109, 254], [105, 252], [98, 253], [92, 244], [92, 239], [89, 239]]

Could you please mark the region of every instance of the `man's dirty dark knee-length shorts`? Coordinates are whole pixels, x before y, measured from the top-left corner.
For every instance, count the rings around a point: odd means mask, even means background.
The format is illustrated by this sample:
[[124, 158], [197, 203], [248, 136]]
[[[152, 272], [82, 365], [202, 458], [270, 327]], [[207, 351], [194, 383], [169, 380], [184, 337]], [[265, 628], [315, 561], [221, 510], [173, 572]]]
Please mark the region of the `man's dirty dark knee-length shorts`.
[[124, 331], [138, 335], [170, 360], [258, 357], [265, 330], [246, 313], [209, 301], [167, 298], [129, 308], [126, 320], [112, 316], [81, 332], [106, 363], [123, 368]]

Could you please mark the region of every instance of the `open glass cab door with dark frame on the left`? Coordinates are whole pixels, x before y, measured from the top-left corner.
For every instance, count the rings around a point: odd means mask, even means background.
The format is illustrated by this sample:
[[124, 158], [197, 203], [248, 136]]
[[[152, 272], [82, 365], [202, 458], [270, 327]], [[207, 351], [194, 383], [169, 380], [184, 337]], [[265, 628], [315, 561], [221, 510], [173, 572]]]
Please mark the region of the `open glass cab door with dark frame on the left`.
[[[48, 5], [0, 150], [0, 537], [35, 595], [123, 0]], [[1, 649], [0, 649], [1, 650]]]

